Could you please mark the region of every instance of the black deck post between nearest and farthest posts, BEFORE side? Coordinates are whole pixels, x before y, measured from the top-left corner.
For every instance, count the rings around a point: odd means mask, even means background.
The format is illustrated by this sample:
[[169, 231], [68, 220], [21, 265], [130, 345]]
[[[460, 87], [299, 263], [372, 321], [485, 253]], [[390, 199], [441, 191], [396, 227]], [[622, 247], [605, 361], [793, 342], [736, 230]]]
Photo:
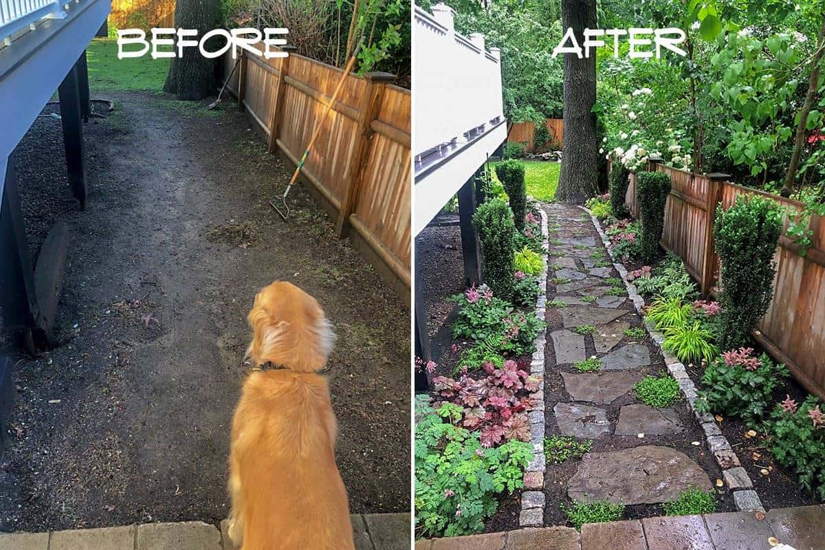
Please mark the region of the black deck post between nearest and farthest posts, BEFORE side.
[[80, 108], [80, 78], [76, 63], [60, 83], [60, 121], [63, 124], [63, 144], [66, 150], [68, 185], [72, 195], [86, 208], [86, 165], [83, 160], [83, 126]]

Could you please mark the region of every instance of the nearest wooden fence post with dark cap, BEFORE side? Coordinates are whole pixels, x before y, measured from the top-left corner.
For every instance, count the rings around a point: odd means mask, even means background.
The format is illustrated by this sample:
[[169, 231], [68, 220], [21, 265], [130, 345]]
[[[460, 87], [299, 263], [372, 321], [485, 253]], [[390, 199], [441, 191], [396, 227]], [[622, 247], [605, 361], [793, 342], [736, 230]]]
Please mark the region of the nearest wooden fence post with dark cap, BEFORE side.
[[350, 229], [350, 214], [355, 211], [358, 204], [358, 191], [361, 189], [361, 181], [364, 179], [367, 156], [370, 152], [370, 140], [373, 135], [372, 121], [378, 118], [384, 89], [387, 84], [395, 82], [396, 77], [390, 73], [366, 73], [364, 78], [366, 80], [366, 101], [358, 120], [360, 130], [358, 142], [354, 148], [350, 179], [347, 181], [346, 190], [344, 190], [341, 211], [338, 212], [336, 223], [337, 234], [341, 238], [347, 237]]

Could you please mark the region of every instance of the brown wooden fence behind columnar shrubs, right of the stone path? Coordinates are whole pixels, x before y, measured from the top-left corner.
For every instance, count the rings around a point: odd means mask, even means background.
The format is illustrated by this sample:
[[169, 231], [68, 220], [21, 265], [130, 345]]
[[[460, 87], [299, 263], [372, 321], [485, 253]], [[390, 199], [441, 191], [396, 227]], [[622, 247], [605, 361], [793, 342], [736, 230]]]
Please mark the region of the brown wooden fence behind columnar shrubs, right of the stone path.
[[[671, 192], [665, 207], [662, 246], [685, 261], [691, 275], [700, 282], [702, 294], [710, 294], [719, 278], [719, 256], [714, 248], [713, 226], [716, 208], [733, 205], [737, 195], [762, 195], [791, 213], [803, 204], [764, 191], [738, 186], [724, 174], [693, 174], [650, 162], [648, 169], [671, 178]], [[636, 178], [630, 175], [625, 204], [639, 218]], [[785, 215], [785, 228], [788, 226]], [[780, 237], [774, 256], [776, 276], [771, 307], [754, 337], [774, 357], [787, 364], [794, 378], [809, 392], [825, 398], [825, 223], [813, 216], [809, 225], [812, 246], [799, 256], [796, 242]]]

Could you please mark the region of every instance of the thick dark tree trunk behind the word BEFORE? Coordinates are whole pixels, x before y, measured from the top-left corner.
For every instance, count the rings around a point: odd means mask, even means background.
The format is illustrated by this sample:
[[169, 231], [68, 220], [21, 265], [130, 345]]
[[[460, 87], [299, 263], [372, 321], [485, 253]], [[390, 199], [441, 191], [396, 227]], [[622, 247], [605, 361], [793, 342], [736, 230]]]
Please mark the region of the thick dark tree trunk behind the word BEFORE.
[[[197, 29], [200, 40], [218, 23], [218, 0], [177, 0], [175, 26], [178, 29]], [[211, 48], [208, 48], [211, 50]], [[214, 59], [206, 59], [198, 48], [186, 48], [182, 58], [173, 58], [163, 92], [177, 99], [196, 101], [214, 92]]]

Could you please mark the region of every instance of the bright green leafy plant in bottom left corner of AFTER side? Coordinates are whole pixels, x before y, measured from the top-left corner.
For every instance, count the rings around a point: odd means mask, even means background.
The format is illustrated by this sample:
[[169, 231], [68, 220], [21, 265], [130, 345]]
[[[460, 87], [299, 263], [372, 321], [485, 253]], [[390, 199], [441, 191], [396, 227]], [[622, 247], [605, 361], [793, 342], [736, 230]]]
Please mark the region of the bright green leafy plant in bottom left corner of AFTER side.
[[415, 522], [422, 537], [480, 533], [498, 507], [497, 496], [523, 487], [532, 458], [529, 443], [511, 440], [483, 448], [478, 431], [453, 421], [427, 397], [416, 402]]

